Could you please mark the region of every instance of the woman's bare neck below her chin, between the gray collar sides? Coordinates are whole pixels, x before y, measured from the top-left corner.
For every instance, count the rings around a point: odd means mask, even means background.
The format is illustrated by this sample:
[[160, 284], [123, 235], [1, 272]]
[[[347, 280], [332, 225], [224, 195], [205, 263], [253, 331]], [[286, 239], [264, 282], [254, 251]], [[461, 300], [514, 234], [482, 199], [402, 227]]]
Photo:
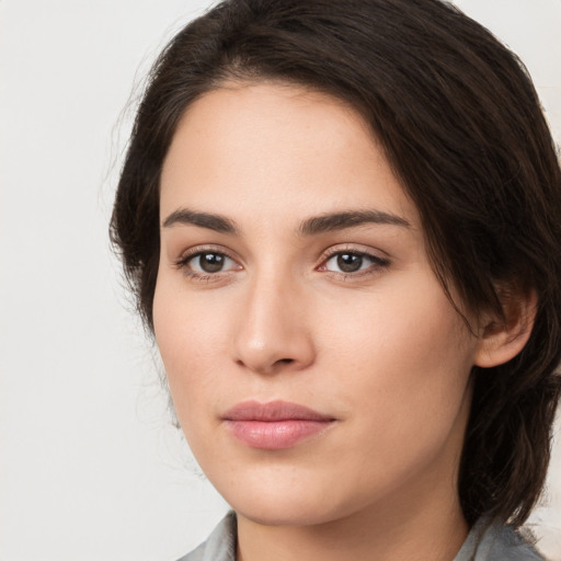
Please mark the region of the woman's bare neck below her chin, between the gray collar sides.
[[312, 526], [265, 526], [238, 515], [238, 561], [293, 561], [295, 554], [298, 561], [451, 561], [468, 525], [459, 503], [443, 507], [434, 490], [426, 492], [431, 504], [409, 496], [408, 511], [393, 500]]

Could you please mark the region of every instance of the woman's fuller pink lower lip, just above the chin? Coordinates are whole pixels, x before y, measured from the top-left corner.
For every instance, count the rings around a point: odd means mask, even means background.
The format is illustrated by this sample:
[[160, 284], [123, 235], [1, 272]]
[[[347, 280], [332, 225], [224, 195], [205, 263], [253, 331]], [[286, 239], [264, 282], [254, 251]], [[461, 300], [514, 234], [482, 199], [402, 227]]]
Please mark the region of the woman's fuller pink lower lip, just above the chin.
[[231, 434], [252, 448], [280, 450], [319, 435], [333, 421], [287, 419], [280, 421], [227, 421]]

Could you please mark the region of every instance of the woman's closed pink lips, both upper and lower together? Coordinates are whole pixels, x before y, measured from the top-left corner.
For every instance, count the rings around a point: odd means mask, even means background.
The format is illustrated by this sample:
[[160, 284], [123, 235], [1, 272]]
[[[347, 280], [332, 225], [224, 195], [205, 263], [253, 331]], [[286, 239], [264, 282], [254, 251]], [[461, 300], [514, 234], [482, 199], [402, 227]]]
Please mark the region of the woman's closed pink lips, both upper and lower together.
[[290, 448], [335, 422], [333, 417], [286, 401], [244, 401], [222, 419], [230, 433], [243, 444], [267, 450]]

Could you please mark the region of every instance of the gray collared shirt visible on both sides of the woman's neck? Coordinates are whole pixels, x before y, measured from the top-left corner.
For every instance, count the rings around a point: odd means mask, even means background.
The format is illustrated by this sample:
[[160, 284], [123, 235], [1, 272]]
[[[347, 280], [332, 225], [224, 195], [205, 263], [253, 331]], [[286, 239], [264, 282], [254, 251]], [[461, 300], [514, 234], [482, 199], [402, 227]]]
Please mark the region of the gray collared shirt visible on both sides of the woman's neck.
[[[236, 561], [236, 514], [228, 513], [204, 543], [178, 561]], [[543, 561], [543, 558], [508, 526], [481, 519], [453, 561]]]

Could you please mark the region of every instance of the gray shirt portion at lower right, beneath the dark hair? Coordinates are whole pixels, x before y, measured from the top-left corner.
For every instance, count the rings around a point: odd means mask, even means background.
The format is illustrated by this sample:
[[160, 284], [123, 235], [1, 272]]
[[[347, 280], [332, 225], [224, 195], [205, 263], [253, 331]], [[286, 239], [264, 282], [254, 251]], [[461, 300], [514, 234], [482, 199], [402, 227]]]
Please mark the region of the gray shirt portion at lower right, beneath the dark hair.
[[454, 561], [545, 561], [517, 530], [479, 520]]

